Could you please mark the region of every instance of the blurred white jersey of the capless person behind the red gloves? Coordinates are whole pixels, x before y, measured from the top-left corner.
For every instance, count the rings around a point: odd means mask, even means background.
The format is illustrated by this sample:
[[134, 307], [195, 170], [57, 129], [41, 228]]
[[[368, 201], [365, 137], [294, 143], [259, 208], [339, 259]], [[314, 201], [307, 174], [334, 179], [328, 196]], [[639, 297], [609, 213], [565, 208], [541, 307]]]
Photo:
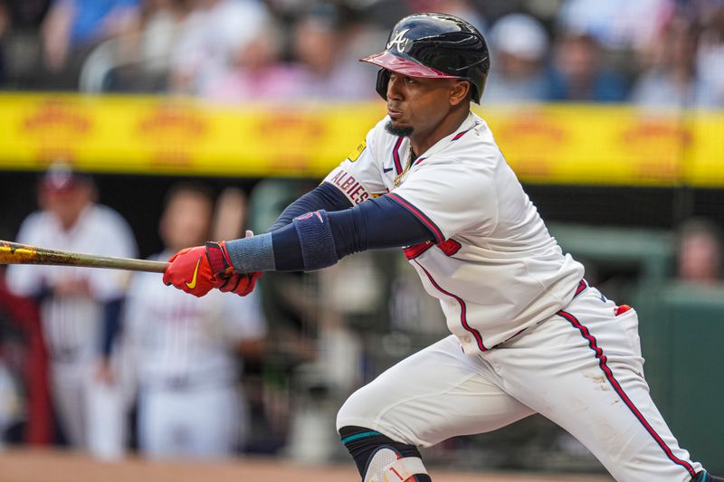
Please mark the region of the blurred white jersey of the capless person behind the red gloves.
[[139, 382], [149, 386], [233, 383], [236, 344], [266, 335], [257, 295], [212, 290], [204, 298], [189, 297], [164, 286], [157, 273], [134, 276], [124, 326], [137, 350]]

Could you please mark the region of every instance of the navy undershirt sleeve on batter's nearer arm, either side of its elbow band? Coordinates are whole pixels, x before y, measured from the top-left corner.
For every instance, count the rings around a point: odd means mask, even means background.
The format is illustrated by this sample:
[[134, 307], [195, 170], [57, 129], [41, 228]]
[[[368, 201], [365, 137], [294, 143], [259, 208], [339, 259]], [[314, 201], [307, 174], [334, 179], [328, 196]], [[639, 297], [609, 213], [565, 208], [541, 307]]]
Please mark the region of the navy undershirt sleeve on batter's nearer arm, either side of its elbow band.
[[[338, 260], [363, 250], [399, 248], [434, 241], [433, 232], [403, 206], [386, 196], [327, 215]], [[272, 232], [271, 243], [277, 271], [304, 269], [302, 247], [292, 224]]]

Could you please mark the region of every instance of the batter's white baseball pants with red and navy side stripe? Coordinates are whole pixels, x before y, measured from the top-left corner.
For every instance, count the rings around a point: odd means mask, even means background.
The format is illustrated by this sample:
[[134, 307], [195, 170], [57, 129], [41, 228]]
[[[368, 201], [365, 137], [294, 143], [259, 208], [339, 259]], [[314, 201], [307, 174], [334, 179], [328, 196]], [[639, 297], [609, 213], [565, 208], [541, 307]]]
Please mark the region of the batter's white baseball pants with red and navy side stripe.
[[580, 440], [616, 480], [689, 482], [701, 470], [649, 395], [635, 311], [615, 316], [595, 288], [478, 356], [463, 354], [454, 336], [413, 354], [353, 393], [337, 427], [428, 447], [535, 412]]

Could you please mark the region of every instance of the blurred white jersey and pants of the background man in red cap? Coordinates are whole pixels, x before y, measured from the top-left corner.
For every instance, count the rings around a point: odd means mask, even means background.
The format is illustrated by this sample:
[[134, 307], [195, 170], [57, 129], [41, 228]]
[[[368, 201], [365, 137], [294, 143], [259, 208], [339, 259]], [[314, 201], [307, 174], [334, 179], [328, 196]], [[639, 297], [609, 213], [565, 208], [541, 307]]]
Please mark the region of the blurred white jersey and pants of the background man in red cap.
[[[136, 241], [128, 223], [119, 213], [100, 204], [86, 207], [68, 231], [52, 213], [33, 213], [23, 222], [17, 240], [57, 250], [136, 256]], [[119, 398], [121, 394], [111, 387], [100, 387], [94, 379], [94, 368], [100, 354], [103, 304], [124, 294], [128, 273], [42, 265], [13, 265], [7, 270], [8, 286], [21, 296], [36, 295], [43, 285], [52, 288], [79, 279], [87, 283], [90, 296], [51, 293], [41, 305], [43, 337], [52, 369], [53, 404], [71, 443], [106, 457], [122, 451], [123, 428], [110, 423], [119, 420], [121, 403], [107, 403], [111, 396]]]

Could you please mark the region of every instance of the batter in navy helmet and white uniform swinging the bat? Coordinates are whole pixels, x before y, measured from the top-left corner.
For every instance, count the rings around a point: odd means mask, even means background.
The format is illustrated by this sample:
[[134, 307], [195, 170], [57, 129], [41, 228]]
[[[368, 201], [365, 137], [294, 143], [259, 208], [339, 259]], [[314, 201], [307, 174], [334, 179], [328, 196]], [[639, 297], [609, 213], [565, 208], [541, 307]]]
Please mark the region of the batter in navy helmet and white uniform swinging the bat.
[[365, 142], [270, 232], [183, 250], [165, 281], [196, 296], [230, 282], [245, 292], [264, 270], [322, 269], [359, 250], [405, 247], [452, 335], [339, 410], [364, 482], [429, 482], [418, 447], [535, 412], [618, 480], [722, 480], [691, 460], [656, 410], [636, 312], [586, 283], [470, 111], [488, 59], [481, 33], [459, 18], [403, 18], [386, 50], [363, 59], [380, 67], [376, 90], [387, 103]]

